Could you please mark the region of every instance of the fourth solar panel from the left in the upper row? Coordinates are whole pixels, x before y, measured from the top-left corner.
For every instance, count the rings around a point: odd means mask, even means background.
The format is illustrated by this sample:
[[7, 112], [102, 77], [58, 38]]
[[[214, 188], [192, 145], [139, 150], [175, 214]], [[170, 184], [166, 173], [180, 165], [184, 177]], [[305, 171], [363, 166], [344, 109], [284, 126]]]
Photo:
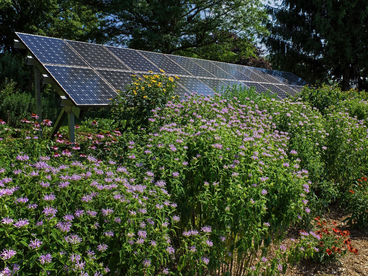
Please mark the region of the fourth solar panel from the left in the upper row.
[[191, 75], [190, 72], [184, 70], [180, 66], [178, 66], [174, 61], [170, 60], [164, 54], [153, 53], [153, 52], [144, 52], [138, 51], [145, 57], [147, 57], [152, 63], [154, 63], [157, 67], [164, 70], [166, 74], [170, 75]]

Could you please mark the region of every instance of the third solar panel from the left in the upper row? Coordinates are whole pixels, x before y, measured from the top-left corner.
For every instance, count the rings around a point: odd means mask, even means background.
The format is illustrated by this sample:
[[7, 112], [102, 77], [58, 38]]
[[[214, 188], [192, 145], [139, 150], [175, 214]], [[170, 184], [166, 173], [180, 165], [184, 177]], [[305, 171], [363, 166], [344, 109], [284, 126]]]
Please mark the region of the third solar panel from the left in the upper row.
[[155, 66], [151, 61], [146, 59], [136, 50], [106, 46], [110, 52], [117, 56], [121, 61], [127, 64], [131, 70], [135, 72], [148, 72], [152, 71], [154, 73], [159, 73], [160, 69]]

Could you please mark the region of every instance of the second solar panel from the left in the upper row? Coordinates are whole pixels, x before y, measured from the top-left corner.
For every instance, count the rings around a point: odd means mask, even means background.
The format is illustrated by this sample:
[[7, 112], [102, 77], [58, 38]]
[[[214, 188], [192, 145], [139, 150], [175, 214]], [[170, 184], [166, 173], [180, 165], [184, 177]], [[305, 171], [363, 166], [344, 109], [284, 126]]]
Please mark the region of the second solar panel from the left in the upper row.
[[130, 70], [102, 45], [72, 40], [65, 41], [93, 68]]

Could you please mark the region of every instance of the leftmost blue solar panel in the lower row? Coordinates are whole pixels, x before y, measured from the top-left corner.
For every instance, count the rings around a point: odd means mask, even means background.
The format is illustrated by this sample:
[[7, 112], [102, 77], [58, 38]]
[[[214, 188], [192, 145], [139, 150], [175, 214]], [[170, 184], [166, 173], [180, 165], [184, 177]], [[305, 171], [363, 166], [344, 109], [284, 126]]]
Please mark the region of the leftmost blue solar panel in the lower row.
[[108, 105], [117, 92], [92, 68], [45, 65], [77, 106]]

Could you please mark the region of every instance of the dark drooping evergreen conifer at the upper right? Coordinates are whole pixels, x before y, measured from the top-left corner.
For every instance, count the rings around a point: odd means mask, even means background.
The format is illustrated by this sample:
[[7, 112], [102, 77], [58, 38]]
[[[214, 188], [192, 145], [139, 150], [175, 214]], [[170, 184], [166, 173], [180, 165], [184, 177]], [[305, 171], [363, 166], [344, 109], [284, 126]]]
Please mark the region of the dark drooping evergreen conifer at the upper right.
[[[283, 0], [268, 6], [262, 40], [274, 67], [309, 82], [363, 84], [368, 68], [368, 0]], [[361, 79], [361, 81], [359, 81]]]

